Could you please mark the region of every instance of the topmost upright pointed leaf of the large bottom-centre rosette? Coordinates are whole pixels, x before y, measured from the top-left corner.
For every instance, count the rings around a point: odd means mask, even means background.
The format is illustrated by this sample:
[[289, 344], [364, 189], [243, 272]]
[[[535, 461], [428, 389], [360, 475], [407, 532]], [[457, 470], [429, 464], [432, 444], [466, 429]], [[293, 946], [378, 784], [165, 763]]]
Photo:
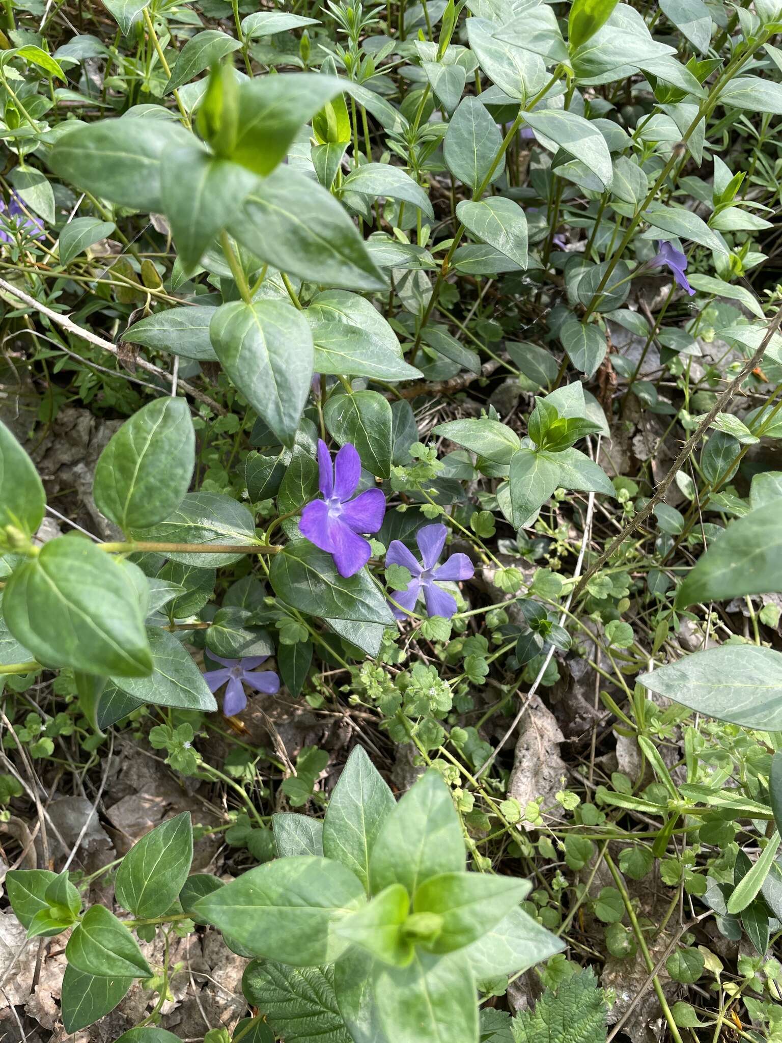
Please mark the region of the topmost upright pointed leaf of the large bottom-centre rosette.
[[361, 746], [357, 746], [334, 787], [323, 821], [323, 854], [336, 858], [369, 886], [369, 856], [396, 806], [388, 784]]

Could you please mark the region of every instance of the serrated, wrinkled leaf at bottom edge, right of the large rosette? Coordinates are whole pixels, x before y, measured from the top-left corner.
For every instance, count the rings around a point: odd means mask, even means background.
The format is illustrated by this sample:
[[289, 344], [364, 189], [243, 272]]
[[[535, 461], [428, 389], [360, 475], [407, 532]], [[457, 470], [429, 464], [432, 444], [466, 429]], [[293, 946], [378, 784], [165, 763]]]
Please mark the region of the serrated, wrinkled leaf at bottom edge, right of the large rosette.
[[513, 1019], [516, 1043], [601, 1043], [606, 1039], [608, 1005], [594, 971], [582, 970], [546, 989], [534, 1011]]

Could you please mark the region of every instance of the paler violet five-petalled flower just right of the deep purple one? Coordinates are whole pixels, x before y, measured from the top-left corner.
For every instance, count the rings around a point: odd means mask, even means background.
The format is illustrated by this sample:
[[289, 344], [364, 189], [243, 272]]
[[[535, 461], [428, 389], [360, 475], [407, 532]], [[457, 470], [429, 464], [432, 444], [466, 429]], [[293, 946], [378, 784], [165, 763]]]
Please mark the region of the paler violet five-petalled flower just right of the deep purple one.
[[[416, 561], [400, 540], [391, 540], [386, 555], [386, 564], [405, 565], [413, 577], [407, 590], [393, 591], [394, 601], [410, 612], [413, 611], [418, 596], [423, 592], [426, 614], [442, 615], [449, 620], [457, 610], [456, 598], [447, 590], [442, 590], [437, 584], [469, 580], [474, 575], [475, 569], [466, 554], [451, 554], [439, 568], [435, 568], [445, 545], [445, 534], [444, 525], [425, 525], [418, 530], [415, 538], [418, 550], [421, 552], [420, 562]], [[391, 607], [397, 620], [406, 618], [405, 612], [396, 608], [395, 605]]]

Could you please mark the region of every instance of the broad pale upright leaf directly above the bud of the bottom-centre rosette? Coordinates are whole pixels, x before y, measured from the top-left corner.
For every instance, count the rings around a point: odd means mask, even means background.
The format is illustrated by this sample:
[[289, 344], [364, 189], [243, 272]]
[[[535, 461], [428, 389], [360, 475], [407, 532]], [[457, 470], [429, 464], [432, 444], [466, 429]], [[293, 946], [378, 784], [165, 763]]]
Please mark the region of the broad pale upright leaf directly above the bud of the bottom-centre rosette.
[[430, 770], [386, 819], [369, 857], [372, 894], [401, 883], [408, 894], [430, 877], [464, 870], [464, 839], [450, 791]]

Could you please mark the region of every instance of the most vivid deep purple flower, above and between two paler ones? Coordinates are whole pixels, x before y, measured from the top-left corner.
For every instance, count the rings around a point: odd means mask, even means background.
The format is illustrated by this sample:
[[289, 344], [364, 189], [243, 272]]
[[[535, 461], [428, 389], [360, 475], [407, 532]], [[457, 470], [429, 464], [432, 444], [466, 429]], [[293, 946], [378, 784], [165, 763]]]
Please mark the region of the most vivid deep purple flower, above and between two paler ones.
[[369, 561], [371, 548], [358, 533], [377, 532], [386, 498], [380, 489], [367, 489], [350, 499], [361, 479], [361, 460], [349, 442], [337, 454], [332, 472], [328, 446], [318, 440], [318, 467], [323, 499], [304, 507], [298, 527], [311, 543], [332, 555], [337, 572], [347, 578]]

